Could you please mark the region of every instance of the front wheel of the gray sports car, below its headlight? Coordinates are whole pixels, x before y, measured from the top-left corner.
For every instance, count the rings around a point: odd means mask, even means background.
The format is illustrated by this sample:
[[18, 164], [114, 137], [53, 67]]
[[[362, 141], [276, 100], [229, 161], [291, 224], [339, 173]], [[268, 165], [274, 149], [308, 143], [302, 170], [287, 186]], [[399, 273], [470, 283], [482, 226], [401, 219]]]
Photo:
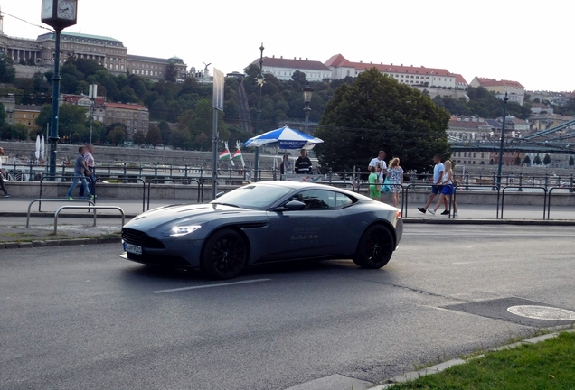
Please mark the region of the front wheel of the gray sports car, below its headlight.
[[248, 246], [240, 233], [222, 229], [203, 246], [203, 270], [214, 279], [231, 279], [240, 274], [248, 261]]

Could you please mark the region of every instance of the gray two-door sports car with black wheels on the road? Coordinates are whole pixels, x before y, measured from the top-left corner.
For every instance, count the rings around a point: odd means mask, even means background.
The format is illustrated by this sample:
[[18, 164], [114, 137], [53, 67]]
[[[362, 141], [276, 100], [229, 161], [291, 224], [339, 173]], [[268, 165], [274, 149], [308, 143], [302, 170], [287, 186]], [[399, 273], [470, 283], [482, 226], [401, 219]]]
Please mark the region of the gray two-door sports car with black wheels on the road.
[[207, 204], [151, 209], [122, 228], [122, 257], [146, 265], [201, 267], [229, 279], [256, 263], [353, 259], [386, 265], [403, 232], [401, 211], [323, 184], [262, 181]]

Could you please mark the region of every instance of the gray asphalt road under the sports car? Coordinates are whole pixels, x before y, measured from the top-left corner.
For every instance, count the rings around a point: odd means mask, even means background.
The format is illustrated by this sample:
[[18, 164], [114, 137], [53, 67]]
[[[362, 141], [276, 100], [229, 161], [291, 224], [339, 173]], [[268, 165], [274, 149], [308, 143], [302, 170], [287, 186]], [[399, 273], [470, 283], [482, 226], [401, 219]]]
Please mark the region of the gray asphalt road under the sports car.
[[0, 387], [376, 383], [556, 324], [505, 318], [495, 303], [494, 318], [446, 306], [518, 297], [575, 308], [573, 228], [405, 230], [382, 270], [265, 265], [226, 283], [132, 264], [118, 245], [0, 251]]

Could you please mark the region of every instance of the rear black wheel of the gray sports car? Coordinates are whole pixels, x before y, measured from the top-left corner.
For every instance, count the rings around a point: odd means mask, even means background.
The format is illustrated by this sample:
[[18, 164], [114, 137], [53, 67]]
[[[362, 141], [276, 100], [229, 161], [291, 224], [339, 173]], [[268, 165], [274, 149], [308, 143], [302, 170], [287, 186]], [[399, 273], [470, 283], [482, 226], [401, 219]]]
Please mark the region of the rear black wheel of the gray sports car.
[[367, 228], [360, 238], [353, 263], [362, 268], [382, 268], [393, 255], [393, 236], [389, 228], [375, 225]]

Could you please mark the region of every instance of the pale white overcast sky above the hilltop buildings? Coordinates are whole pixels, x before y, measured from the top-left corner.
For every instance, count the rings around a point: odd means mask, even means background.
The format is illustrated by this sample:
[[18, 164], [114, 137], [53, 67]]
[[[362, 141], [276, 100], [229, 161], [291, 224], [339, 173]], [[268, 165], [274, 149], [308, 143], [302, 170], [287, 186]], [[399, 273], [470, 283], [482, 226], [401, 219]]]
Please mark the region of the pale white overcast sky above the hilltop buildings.
[[[40, 22], [40, 0], [0, 0], [2, 11]], [[67, 29], [111, 36], [128, 53], [184, 59], [231, 72], [264, 56], [348, 60], [447, 69], [519, 81], [530, 90], [575, 90], [575, 2], [549, 0], [79, 0]], [[5, 34], [44, 30], [5, 15]]]

